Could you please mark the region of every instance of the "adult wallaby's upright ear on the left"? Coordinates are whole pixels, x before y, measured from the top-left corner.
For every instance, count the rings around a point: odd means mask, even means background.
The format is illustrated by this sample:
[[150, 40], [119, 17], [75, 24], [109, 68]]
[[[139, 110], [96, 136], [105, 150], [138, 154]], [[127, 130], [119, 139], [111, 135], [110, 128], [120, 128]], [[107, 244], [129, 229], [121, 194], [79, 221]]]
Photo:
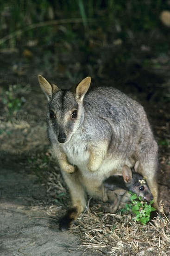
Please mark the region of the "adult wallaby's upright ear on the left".
[[50, 84], [42, 75], [38, 74], [38, 81], [44, 94], [47, 96], [48, 101], [52, 99], [52, 95], [59, 91], [55, 84]]

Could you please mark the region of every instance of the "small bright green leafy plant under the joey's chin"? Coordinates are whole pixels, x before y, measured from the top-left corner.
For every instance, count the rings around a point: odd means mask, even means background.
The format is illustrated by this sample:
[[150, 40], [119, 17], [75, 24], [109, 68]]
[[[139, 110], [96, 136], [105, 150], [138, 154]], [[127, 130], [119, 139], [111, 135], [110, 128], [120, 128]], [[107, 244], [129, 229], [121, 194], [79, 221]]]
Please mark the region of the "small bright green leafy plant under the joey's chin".
[[[132, 194], [132, 192], [128, 193]], [[156, 210], [151, 206], [153, 200], [150, 203], [144, 202], [143, 199], [136, 194], [132, 194], [130, 200], [131, 202], [125, 205], [125, 209], [122, 209], [122, 212], [131, 211], [135, 214], [134, 219], [145, 225], [146, 222], [150, 220], [151, 212]]]

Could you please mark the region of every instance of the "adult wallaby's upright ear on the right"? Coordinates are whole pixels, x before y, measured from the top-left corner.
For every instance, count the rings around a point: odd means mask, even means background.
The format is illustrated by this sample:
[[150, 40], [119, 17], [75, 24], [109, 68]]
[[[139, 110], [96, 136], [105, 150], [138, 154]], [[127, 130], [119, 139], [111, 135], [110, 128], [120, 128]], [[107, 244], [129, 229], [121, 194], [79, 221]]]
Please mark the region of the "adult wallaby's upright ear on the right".
[[84, 78], [76, 87], [76, 98], [83, 100], [84, 95], [87, 93], [91, 83], [91, 77]]

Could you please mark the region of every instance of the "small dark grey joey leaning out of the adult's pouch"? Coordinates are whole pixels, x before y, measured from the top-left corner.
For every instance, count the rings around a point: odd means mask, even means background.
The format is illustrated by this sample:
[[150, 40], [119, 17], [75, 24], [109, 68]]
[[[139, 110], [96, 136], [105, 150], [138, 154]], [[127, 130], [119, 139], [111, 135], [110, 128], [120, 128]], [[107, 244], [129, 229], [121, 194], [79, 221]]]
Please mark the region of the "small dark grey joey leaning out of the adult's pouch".
[[110, 207], [110, 212], [114, 213], [118, 209], [126, 191], [131, 191], [137, 194], [138, 197], [141, 196], [147, 202], [153, 200], [153, 195], [151, 194], [147, 182], [142, 175], [137, 173], [138, 166], [139, 161], [135, 163], [132, 169], [124, 165], [122, 176], [112, 175], [103, 182], [105, 193], [107, 193], [110, 198], [114, 195], [114, 202]]

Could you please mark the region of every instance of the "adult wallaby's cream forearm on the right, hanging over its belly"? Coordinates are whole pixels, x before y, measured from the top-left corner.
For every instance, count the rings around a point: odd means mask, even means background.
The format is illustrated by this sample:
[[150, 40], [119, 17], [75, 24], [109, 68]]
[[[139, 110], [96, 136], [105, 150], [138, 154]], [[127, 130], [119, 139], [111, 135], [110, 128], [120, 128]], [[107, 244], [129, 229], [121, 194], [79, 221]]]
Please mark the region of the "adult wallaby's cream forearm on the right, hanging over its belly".
[[90, 158], [88, 162], [89, 171], [95, 172], [100, 168], [104, 155], [107, 155], [107, 143], [103, 142], [99, 148], [90, 148]]

